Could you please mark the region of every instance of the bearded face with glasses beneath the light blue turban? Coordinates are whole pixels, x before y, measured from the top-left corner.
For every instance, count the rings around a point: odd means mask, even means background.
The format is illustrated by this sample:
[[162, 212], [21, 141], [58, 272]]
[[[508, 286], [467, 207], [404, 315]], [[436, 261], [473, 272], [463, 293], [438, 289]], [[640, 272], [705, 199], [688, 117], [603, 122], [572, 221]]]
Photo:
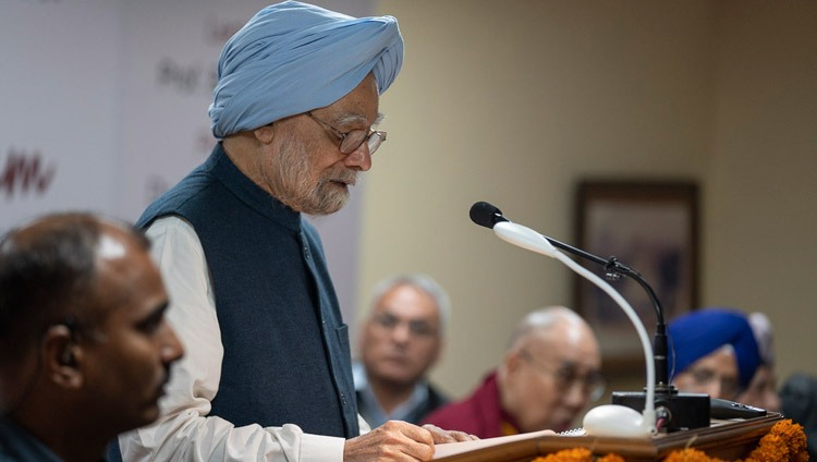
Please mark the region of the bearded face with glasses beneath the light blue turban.
[[333, 214], [386, 139], [385, 132], [371, 129], [379, 119], [377, 82], [369, 75], [325, 108], [257, 129], [265, 147], [249, 177], [294, 210]]

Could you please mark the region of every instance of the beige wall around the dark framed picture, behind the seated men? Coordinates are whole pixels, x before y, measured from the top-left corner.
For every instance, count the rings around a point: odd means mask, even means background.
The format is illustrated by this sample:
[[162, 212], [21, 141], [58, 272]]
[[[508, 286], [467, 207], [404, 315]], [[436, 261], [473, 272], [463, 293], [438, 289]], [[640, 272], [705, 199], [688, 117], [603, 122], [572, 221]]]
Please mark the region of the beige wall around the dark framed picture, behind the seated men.
[[817, 3], [377, 4], [406, 54], [365, 180], [358, 293], [398, 271], [448, 289], [432, 375], [446, 390], [496, 365], [525, 312], [572, 299], [568, 268], [499, 241], [468, 208], [489, 200], [571, 242], [585, 178], [698, 181], [703, 303], [766, 311], [780, 372], [817, 373], [803, 354], [817, 350]]

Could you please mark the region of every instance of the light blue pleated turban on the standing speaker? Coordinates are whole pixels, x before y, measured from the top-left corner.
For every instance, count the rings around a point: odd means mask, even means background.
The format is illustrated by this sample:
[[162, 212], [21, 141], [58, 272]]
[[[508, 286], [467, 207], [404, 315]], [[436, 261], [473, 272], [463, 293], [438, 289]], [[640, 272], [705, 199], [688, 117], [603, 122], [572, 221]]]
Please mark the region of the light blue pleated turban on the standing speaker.
[[382, 94], [402, 64], [392, 16], [355, 19], [296, 1], [267, 7], [221, 51], [212, 134], [220, 139], [329, 106], [370, 72]]

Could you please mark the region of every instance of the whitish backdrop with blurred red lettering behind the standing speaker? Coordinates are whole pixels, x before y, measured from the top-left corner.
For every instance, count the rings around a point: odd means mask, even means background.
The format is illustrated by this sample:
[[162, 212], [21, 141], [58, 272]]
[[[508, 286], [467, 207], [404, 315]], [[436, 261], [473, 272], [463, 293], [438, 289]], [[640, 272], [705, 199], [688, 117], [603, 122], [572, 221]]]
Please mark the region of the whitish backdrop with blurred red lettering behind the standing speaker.
[[[209, 155], [219, 52], [269, 3], [3, 0], [0, 232], [54, 210], [138, 218]], [[370, 0], [315, 3], [355, 16], [374, 10]], [[313, 220], [350, 323], [359, 195]]]

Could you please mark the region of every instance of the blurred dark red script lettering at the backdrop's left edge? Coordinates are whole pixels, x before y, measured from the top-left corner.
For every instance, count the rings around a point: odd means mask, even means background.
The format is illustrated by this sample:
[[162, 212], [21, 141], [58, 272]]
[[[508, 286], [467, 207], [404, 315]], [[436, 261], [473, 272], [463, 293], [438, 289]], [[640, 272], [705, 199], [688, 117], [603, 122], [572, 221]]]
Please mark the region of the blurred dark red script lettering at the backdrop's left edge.
[[39, 149], [9, 148], [3, 163], [0, 158], [0, 196], [45, 194], [57, 174], [53, 162], [46, 165]]

